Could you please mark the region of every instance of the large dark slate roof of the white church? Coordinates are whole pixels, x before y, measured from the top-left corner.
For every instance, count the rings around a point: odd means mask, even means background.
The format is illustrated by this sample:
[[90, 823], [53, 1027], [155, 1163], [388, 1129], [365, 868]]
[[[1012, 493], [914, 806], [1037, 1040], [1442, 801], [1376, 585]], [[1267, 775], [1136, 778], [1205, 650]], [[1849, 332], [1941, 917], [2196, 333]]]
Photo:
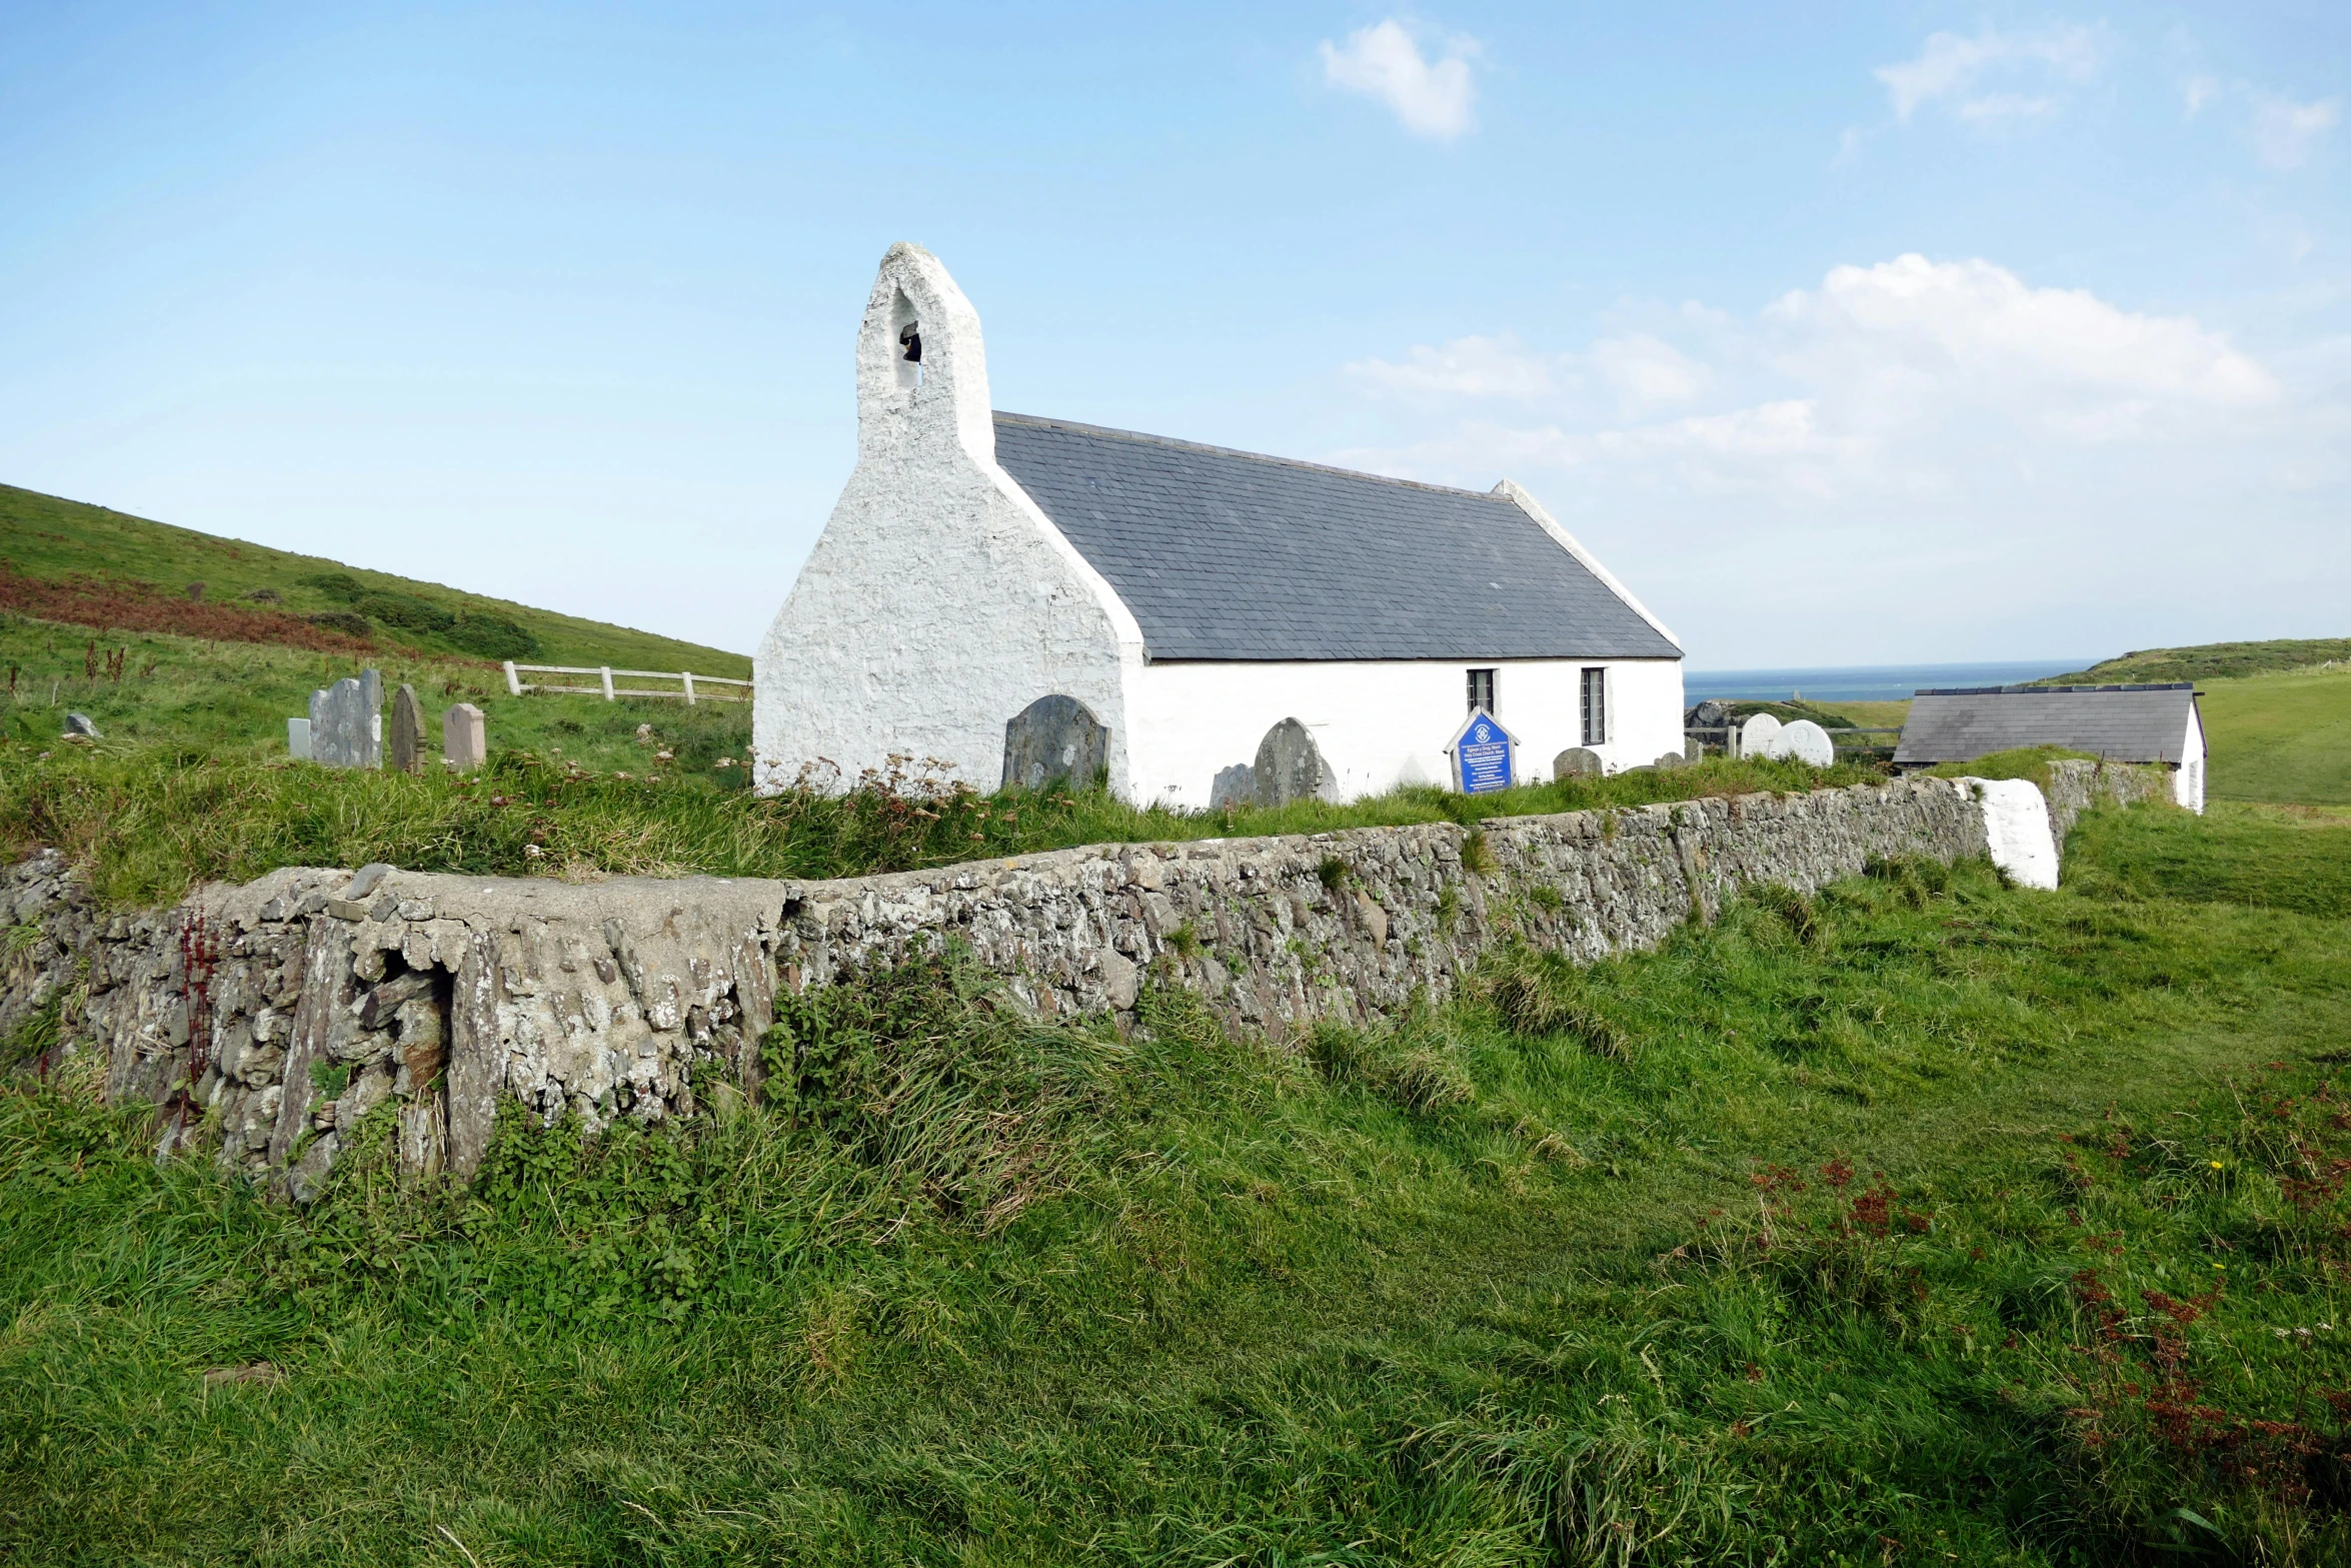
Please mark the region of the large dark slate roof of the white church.
[[1681, 658], [1505, 496], [997, 414], [1154, 661]]

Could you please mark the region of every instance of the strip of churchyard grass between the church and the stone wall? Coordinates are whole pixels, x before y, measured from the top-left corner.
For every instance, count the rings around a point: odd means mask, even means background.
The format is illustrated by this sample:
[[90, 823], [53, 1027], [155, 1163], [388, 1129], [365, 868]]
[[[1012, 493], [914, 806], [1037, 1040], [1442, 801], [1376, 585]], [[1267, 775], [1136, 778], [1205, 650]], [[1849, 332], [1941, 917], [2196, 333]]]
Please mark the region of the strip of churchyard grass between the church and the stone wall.
[[[193, 882], [247, 882], [280, 865], [364, 865], [465, 875], [853, 877], [1107, 842], [1331, 832], [1394, 823], [1474, 825], [1488, 816], [1639, 806], [1860, 783], [1860, 769], [1707, 762], [1690, 769], [1523, 785], [1500, 795], [1396, 790], [1345, 806], [1277, 811], [1136, 809], [1103, 792], [978, 795], [891, 776], [846, 795], [757, 799], [743, 769], [717, 769], [734, 719], [661, 705], [658, 745], [611, 731], [630, 712], [581, 698], [522, 698], [538, 733], [602, 724], [562, 757], [494, 750], [475, 776], [336, 771], [158, 743], [0, 741], [0, 851], [63, 849], [108, 903], [176, 898]], [[703, 715], [703, 717], [694, 717]], [[501, 724], [494, 710], [491, 724]], [[691, 729], [705, 724], [708, 729]], [[498, 731], [494, 731], [498, 733]], [[672, 750], [661, 762], [661, 750]], [[578, 755], [630, 766], [590, 769]]]

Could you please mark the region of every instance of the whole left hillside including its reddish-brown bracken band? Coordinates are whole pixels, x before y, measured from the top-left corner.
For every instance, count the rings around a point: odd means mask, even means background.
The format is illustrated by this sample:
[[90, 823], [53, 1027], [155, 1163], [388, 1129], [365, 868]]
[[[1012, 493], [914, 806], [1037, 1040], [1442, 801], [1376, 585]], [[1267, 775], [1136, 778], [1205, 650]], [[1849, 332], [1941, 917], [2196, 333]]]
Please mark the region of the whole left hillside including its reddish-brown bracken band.
[[0, 609], [320, 654], [748, 677], [750, 658], [0, 484]]

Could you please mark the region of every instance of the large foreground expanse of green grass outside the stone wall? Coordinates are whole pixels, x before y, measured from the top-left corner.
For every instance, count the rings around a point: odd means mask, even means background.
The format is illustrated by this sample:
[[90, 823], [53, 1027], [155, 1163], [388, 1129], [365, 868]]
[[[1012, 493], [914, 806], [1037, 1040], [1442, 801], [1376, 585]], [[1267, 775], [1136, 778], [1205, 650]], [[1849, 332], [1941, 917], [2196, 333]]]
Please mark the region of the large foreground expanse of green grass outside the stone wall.
[[2351, 924], [2229, 898], [2309, 827], [2092, 823], [1375, 1032], [905, 969], [470, 1194], [19, 1084], [0, 1556], [2344, 1561]]

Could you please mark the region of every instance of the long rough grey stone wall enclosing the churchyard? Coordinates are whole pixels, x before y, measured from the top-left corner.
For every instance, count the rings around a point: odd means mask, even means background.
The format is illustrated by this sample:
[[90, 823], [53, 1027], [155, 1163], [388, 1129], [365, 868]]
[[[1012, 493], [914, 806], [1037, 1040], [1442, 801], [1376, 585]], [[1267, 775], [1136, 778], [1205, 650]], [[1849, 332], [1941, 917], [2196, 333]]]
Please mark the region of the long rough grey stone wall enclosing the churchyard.
[[160, 1107], [160, 1152], [209, 1150], [301, 1199], [381, 1105], [407, 1171], [465, 1175], [505, 1093], [600, 1126], [691, 1114], [705, 1067], [757, 1088], [778, 987], [947, 938], [1046, 1016], [1128, 1011], [1159, 973], [1232, 1027], [1279, 1034], [1446, 997], [1512, 936], [1589, 961], [1712, 919], [1744, 886], [1984, 849], [1965, 783], [1918, 778], [844, 882], [289, 867], [134, 914], [94, 910], [40, 853], [0, 886], [38, 929], [12, 947], [0, 1030], [63, 992], [63, 1034], [103, 1053], [108, 1095]]

